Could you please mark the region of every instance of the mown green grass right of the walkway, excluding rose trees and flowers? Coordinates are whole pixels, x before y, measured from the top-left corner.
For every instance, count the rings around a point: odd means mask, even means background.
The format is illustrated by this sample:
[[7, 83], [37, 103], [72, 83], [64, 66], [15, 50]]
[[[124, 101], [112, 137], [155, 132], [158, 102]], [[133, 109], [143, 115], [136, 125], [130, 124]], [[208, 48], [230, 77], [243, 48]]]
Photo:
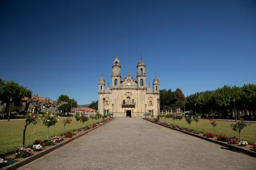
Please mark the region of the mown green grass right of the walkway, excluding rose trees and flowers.
[[[160, 119], [161, 122], [165, 122], [165, 118]], [[166, 123], [173, 124], [173, 120], [170, 118], [166, 118]], [[236, 136], [238, 137], [238, 132], [233, 131], [230, 127], [230, 124], [235, 122], [230, 121], [217, 121], [217, 126], [215, 127], [215, 133], [225, 133], [228, 135], [228, 137]], [[179, 126], [180, 121], [176, 120], [175, 125]], [[181, 120], [181, 127], [182, 128], [188, 128], [188, 123], [183, 118]], [[196, 122], [192, 122], [190, 124], [190, 129], [196, 130]], [[209, 120], [201, 119], [198, 122], [198, 131], [202, 133], [213, 133], [213, 128], [210, 124]], [[248, 125], [246, 128], [242, 130], [242, 140], [247, 141], [250, 144], [253, 144], [256, 142], [256, 123], [251, 123], [251, 125]]]

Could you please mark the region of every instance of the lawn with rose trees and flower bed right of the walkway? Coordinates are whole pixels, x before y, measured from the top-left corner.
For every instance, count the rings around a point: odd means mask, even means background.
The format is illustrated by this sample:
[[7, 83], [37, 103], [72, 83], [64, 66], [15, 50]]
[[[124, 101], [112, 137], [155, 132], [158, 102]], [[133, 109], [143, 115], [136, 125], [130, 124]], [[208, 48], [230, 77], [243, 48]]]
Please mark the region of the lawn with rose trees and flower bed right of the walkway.
[[243, 120], [237, 122], [207, 120], [201, 119], [199, 116], [184, 116], [183, 114], [161, 114], [159, 115], [159, 121], [157, 118], [147, 117], [145, 119], [256, 151], [256, 123], [246, 123]]

